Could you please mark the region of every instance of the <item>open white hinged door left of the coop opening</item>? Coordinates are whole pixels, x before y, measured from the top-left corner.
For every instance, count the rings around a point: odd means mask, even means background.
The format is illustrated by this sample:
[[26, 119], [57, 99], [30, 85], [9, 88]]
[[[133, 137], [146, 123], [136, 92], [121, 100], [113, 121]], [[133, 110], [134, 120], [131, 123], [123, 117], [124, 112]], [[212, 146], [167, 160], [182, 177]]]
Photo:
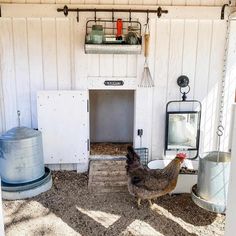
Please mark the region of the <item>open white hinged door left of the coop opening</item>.
[[88, 92], [40, 91], [38, 129], [46, 164], [88, 161]]

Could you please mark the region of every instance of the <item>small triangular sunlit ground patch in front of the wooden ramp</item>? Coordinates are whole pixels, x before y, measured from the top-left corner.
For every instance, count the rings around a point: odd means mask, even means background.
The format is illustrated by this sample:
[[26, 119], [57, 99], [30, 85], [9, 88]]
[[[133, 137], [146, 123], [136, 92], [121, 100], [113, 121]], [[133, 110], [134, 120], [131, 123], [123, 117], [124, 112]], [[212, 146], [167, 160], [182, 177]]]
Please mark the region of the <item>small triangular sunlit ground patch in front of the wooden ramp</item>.
[[96, 222], [100, 223], [105, 228], [110, 227], [113, 225], [117, 220], [120, 219], [120, 216], [114, 215], [111, 213], [103, 212], [103, 211], [91, 211], [91, 210], [85, 210], [81, 207], [76, 206], [77, 210], [82, 212], [83, 214], [86, 214], [87, 216], [91, 217]]

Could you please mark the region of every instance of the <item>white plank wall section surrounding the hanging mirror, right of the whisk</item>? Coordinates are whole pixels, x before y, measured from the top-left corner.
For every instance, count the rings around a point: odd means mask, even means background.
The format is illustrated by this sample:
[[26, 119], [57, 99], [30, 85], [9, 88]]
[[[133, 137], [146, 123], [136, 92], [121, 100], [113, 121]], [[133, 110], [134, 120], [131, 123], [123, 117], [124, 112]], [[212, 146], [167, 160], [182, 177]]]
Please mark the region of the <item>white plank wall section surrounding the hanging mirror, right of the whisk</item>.
[[[157, 21], [156, 87], [153, 99], [153, 158], [163, 155], [165, 104], [178, 98], [176, 77], [190, 78], [189, 98], [203, 105], [202, 150], [215, 149], [218, 82], [221, 79], [225, 22], [209, 20]], [[182, 43], [182, 44], [181, 44]], [[162, 112], [161, 112], [162, 111]], [[229, 128], [229, 127], [226, 127]]]

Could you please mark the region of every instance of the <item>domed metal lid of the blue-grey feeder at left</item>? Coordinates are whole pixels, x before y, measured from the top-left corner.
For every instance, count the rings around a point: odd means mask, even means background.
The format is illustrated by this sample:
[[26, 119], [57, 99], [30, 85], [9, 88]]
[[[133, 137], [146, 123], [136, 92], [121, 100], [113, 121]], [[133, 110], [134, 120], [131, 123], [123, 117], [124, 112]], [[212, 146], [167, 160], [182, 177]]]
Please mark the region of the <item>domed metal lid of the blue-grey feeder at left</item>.
[[15, 127], [0, 136], [0, 140], [14, 141], [33, 138], [39, 135], [41, 135], [41, 132], [38, 130], [30, 129], [27, 127]]

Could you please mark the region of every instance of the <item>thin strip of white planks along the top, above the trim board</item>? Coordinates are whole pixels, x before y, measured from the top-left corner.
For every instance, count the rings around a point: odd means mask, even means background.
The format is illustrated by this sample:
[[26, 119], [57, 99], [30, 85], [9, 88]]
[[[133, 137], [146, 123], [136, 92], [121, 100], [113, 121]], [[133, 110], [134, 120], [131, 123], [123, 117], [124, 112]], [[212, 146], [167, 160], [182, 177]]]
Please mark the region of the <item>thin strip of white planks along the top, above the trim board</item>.
[[[106, 4], [106, 5], [180, 5], [180, 6], [221, 6], [229, 0], [1, 0], [2, 3], [52, 3], [52, 4]], [[232, 0], [232, 4], [235, 1]]]

